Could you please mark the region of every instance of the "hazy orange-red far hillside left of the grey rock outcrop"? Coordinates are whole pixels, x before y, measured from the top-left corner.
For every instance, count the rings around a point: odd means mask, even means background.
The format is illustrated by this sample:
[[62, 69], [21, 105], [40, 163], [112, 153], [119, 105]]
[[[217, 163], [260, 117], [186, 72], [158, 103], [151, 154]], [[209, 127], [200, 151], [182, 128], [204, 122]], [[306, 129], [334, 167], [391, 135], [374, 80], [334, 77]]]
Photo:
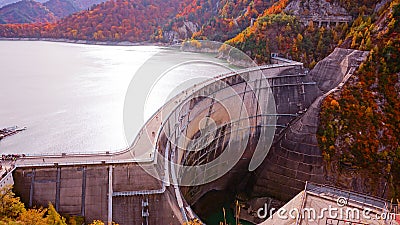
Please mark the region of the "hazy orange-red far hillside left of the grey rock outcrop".
[[3, 25], [0, 37], [47, 37], [90, 41], [148, 41], [177, 13], [180, 0], [108, 1], [53, 24]]

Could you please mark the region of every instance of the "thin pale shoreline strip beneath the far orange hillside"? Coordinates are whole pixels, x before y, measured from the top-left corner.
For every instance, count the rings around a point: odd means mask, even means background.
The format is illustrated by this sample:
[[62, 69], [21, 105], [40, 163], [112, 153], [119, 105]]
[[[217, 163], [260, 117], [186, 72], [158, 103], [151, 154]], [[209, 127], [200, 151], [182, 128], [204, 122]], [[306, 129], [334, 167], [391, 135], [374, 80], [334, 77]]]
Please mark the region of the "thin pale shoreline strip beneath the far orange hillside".
[[47, 41], [57, 43], [84, 44], [84, 45], [103, 45], [103, 46], [158, 46], [173, 47], [176, 44], [168, 44], [162, 42], [130, 42], [130, 41], [88, 41], [88, 40], [71, 40], [66, 38], [5, 38], [0, 37], [0, 41]]

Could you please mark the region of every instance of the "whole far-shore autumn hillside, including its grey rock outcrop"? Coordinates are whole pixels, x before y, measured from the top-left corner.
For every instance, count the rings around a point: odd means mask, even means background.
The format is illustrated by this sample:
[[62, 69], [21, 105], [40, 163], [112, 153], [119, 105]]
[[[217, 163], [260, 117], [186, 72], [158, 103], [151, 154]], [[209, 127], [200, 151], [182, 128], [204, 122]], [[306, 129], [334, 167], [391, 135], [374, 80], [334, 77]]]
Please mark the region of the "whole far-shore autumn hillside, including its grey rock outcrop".
[[[272, 1], [263, 0], [117, 0], [53, 24], [2, 26], [0, 36], [132, 42], [172, 42], [194, 36], [225, 41], [271, 5]], [[65, 14], [52, 11], [59, 17]]]

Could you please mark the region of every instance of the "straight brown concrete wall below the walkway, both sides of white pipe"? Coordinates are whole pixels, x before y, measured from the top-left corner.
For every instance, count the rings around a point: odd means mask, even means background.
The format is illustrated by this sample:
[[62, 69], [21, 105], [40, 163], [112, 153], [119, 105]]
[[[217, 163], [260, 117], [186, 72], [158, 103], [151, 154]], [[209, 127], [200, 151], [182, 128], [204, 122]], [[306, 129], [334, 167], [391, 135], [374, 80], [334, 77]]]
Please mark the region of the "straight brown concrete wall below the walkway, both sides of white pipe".
[[[162, 184], [138, 164], [17, 168], [13, 177], [14, 191], [29, 207], [51, 202], [61, 214], [84, 216], [88, 223], [109, 219], [119, 224], [179, 223], [168, 195], [143, 192], [161, 189]], [[149, 216], [143, 217], [142, 211]]]

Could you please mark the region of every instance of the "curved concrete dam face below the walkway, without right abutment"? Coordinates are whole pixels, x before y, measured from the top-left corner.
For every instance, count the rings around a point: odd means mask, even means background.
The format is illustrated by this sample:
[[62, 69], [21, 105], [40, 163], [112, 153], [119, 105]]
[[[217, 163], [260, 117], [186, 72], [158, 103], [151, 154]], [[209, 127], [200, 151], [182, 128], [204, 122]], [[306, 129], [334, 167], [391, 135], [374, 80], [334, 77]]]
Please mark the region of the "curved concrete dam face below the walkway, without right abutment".
[[[255, 154], [256, 149], [267, 153], [285, 125], [311, 101], [312, 96], [302, 98], [299, 93], [313, 88], [301, 88], [306, 81], [302, 67], [267, 72], [269, 78], [257, 79], [251, 73], [244, 75], [246, 79], [226, 78], [221, 81], [224, 84], [201, 96], [194, 94], [164, 123], [157, 144], [158, 149], [170, 152], [168, 160], [175, 174], [169, 179], [179, 185], [184, 200], [205, 221], [211, 212], [233, 203], [237, 195], [254, 197], [256, 174], [249, 165], [254, 157], [264, 160], [262, 154]], [[224, 92], [225, 88], [233, 92]], [[279, 100], [276, 107], [276, 98], [285, 101]]]

